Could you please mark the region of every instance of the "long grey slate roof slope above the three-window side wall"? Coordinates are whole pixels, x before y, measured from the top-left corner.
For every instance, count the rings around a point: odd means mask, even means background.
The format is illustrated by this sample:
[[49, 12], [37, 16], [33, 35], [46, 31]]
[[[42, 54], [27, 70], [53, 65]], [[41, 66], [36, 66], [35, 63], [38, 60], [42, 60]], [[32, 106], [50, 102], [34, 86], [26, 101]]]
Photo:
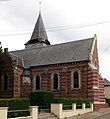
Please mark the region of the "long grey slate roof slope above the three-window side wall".
[[78, 40], [33, 49], [11, 51], [10, 54], [23, 58], [25, 68], [59, 63], [89, 60], [94, 38]]

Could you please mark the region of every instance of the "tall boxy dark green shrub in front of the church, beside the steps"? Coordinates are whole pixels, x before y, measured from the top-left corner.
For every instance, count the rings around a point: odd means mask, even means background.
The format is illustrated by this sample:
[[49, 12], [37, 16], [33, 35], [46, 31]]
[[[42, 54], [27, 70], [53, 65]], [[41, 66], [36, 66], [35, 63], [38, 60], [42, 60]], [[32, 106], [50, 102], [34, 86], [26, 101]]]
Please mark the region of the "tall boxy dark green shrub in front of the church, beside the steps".
[[50, 91], [33, 91], [30, 92], [31, 106], [45, 106], [49, 107], [53, 102], [53, 93]]

